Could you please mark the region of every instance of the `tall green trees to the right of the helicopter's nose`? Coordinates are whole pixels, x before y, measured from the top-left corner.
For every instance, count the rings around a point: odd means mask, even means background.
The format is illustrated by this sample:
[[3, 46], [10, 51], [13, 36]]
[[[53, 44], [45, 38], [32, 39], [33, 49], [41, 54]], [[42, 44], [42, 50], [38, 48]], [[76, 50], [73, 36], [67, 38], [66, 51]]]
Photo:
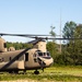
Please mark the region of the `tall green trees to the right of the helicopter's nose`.
[[[63, 44], [61, 46], [61, 54], [58, 52], [59, 50], [56, 50], [57, 48], [52, 46], [54, 42], [51, 42], [49, 50], [51, 51], [51, 55], [54, 57], [54, 63], [66, 66], [82, 65], [82, 24], [77, 24], [72, 21], [67, 22], [62, 30], [62, 37], [77, 39], [63, 40]], [[56, 43], [55, 46], [57, 46]], [[52, 48], [55, 48], [54, 51]]]

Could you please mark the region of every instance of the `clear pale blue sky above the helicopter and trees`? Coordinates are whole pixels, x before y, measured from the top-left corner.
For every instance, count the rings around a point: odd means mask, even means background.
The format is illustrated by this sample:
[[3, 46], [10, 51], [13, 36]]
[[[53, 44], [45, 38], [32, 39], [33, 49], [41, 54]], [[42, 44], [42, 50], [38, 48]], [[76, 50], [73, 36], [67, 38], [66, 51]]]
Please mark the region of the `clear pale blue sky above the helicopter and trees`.
[[[59, 35], [66, 22], [82, 23], [82, 0], [0, 0], [0, 33], [49, 34], [50, 26]], [[27, 38], [3, 37], [9, 42]]]

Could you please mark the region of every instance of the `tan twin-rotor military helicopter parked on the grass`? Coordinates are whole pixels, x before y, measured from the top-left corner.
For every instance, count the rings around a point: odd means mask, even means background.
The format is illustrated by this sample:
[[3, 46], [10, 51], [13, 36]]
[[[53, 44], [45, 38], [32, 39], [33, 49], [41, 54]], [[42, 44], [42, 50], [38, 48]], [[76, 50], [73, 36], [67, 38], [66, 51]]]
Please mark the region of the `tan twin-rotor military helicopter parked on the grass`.
[[[33, 44], [32, 48], [15, 50], [14, 48], [7, 49], [5, 40], [0, 37], [0, 71], [19, 73], [20, 70], [26, 72], [26, 70], [35, 70], [34, 73], [38, 74], [38, 69], [47, 68], [51, 66], [54, 59], [49, 51], [46, 49], [47, 37], [46, 35], [23, 35], [23, 34], [3, 34], [0, 36], [22, 36], [35, 38], [30, 42]], [[39, 36], [39, 37], [38, 37]]]

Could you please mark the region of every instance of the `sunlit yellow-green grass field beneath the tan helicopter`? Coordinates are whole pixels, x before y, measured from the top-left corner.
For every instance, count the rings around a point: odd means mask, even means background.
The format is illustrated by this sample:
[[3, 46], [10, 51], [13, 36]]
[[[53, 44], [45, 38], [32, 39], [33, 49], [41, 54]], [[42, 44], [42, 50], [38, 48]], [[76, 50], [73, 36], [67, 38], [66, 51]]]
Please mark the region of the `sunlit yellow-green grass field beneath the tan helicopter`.
[[34, 70], [28, 70], [26, 74], [0, 74], [0, 81], [15, 81], [15, 80], [32, 80], [34, 82], [82, 82], [82, 67], [50, 67], [39, 70], [39, 74], [33, 73]]

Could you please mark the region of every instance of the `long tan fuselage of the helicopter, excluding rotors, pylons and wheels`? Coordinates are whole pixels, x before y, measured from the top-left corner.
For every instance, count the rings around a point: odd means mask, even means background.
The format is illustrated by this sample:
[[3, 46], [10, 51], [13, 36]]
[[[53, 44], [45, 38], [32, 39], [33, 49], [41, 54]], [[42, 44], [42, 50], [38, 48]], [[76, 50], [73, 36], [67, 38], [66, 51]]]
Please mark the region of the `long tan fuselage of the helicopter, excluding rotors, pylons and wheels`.
[[49, 52], [36, 48], [0, 52], [0, 71], [37, 70], [51, 63]]

